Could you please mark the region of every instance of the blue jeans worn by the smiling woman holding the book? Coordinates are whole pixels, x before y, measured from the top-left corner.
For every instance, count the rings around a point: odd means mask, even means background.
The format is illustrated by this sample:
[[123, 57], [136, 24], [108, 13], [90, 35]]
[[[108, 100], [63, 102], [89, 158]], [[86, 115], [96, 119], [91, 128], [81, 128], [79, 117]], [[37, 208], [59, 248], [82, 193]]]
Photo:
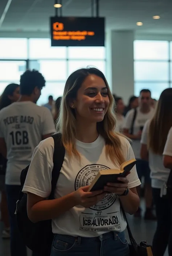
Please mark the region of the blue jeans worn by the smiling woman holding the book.
[[51, 256], [129, 256], [124, 232], [98, 237], [54, 235]]

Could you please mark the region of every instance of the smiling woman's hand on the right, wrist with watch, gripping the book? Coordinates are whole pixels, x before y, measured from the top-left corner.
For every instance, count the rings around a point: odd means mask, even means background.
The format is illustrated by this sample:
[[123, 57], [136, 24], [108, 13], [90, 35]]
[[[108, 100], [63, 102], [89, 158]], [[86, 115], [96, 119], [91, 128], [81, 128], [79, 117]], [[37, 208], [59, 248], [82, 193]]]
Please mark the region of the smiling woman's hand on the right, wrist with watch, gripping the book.
[[122, 195], [128, 188], [128, 179], [125, 177], [118, 178], [118, 180], [122, 183], [107, 183], [107, 186], [104, 187], [104, 191]]

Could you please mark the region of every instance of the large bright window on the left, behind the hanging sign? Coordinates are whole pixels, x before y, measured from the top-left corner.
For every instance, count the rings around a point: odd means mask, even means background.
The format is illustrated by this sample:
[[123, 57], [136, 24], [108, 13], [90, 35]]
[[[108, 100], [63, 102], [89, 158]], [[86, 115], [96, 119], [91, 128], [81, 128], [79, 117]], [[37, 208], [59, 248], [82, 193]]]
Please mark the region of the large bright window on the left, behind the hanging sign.
[[19, 83], [29, 69], [42, 73], [46, 86], [38, 104], [62, 96], [71, 72], [96, 66], [106, 75], [105, 47], [51, 47], [49, 38], [0, 38], [0, 95], [11, 82]]

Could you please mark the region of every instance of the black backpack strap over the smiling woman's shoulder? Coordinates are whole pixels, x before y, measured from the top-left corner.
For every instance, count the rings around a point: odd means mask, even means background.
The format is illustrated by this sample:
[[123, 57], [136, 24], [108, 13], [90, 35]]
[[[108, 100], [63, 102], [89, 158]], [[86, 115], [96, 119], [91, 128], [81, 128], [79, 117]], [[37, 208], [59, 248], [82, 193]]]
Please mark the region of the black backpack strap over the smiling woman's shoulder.
[[52, 170], [52, 191], [49, 199], [54, 199], [54, 191], [56, 189], [57, 180], [60, 175], [60, 170], [62, 168], [65, 157], [65, 147], [61, 141], [61, 133], [53, 134], [52, 137], [54, 139], [54, 154]]

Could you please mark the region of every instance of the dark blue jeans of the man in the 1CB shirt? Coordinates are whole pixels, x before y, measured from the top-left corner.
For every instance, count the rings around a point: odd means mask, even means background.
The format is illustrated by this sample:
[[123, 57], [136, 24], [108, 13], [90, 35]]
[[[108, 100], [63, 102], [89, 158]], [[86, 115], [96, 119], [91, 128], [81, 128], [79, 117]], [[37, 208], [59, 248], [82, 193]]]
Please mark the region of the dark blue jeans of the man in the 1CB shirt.
[[16, 202], [19, 199], [20, 186], [17, 185], [6, 185], [7, 190], [7, 202], [10, 220], [10, 231], [11, 231], [11, 241], [10, 249], [11, 256], [26, 256], [26, 246], [22, 237], [20, 235], [19, 229], [16, 222]]

